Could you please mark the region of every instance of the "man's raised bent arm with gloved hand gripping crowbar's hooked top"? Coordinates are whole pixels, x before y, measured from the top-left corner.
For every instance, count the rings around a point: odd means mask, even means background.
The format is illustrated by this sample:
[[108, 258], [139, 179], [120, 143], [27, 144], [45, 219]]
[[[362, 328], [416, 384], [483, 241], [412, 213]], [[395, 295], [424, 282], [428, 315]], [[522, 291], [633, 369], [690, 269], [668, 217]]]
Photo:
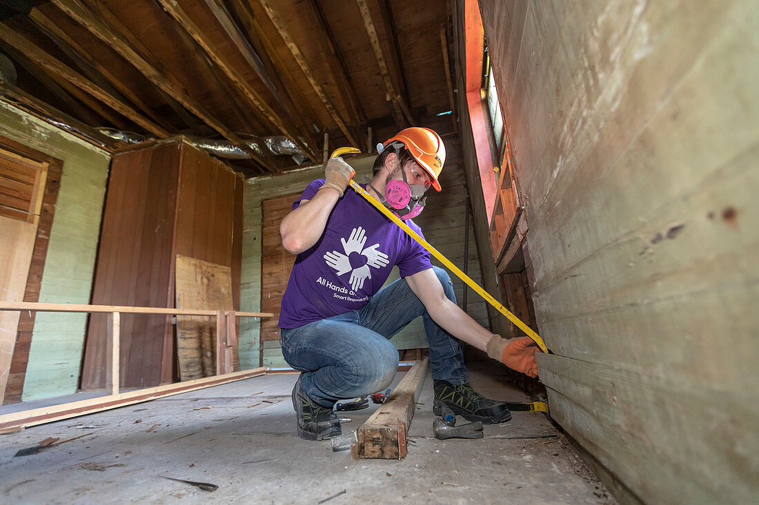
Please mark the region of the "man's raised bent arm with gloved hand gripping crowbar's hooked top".
[[326, 227], [329, 213], [348, 187], [353, 168], [342, 158], [329, 158], [324, 185], [310, 200], [301, 200], [279, 224], [282, 246], [299, 254], [317, 243]]

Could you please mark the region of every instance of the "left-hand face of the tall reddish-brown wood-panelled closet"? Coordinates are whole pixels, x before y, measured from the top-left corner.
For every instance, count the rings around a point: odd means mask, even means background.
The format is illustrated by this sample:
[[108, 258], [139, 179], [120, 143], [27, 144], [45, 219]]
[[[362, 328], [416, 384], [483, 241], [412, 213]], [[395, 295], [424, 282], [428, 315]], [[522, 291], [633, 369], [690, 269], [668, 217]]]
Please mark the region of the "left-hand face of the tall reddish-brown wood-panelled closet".
[[[180, 143], [114, 157], [92, 303], [167, 307]], [[121, 321], [121, 384], [159, 384], [165, 316]], [[105, 384], [106, 318], [90, 316], [81, 387]]]

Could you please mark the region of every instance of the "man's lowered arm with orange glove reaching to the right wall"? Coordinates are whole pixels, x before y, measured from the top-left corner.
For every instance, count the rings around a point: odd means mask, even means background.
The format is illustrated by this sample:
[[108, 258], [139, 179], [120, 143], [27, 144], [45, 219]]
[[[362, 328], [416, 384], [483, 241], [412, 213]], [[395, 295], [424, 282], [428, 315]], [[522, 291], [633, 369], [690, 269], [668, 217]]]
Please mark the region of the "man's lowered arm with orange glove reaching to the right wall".
[[530, 337], [505, 340], [474, 321], [458, 305], [448, 300], [432, 268], [406, 278], [433, 321], [458, 340], [485, 351], [488, 356], [518, 372], [537, 377], [535, 353], [540, 352]]

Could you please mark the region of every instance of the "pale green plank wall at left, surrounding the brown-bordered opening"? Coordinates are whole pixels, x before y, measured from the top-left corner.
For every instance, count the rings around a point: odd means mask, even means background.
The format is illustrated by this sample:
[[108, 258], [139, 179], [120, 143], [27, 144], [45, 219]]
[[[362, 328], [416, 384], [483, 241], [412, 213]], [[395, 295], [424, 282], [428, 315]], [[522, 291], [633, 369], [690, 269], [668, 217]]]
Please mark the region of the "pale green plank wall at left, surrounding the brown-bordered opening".
[[[0, 135], [63, 161], [39, 301], [90, 303], [109, 152], [5, 102], [0, 102]], [[24, 401], [77, 391], [86, 319], [86, 314], [36, 315]]]

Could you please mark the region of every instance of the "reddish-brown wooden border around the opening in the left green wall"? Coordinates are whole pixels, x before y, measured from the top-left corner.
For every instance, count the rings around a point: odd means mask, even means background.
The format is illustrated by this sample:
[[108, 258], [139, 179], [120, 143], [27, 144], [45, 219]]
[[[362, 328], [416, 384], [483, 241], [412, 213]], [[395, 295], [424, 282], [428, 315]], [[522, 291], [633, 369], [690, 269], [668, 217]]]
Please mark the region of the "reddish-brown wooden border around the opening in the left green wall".
[[[24, 302], [39, 302], [39, 290], [42, 287], [43, 271], [50, 242], [50, 230], [55, 215], [55, 202], [58, 200], [58, 190], [61, 186], [61, 167], [63, 166], [63, 162], [5, 137], [0, 138], [0, 146], [4, 149], [10, 149], [13, 152], [23, 154], [27, 158], [32, 158], [38, 162], [46, 161], [49, 163], [45, 192], [43, 193], [43, 204], [39, 212], [32, 262], [29, 267], [27, 287], [24, 291]], [[13, 359], [11, 360], [11, 371], [8, 375], [8, 384], [5, 387], [4, 403], [17, 403], [21, 401], [21, 394], [24, 391], [24, 379], [27, 375], [35, 316], [36, 312], [20, 313], [16, 345], [13, 351]]]

